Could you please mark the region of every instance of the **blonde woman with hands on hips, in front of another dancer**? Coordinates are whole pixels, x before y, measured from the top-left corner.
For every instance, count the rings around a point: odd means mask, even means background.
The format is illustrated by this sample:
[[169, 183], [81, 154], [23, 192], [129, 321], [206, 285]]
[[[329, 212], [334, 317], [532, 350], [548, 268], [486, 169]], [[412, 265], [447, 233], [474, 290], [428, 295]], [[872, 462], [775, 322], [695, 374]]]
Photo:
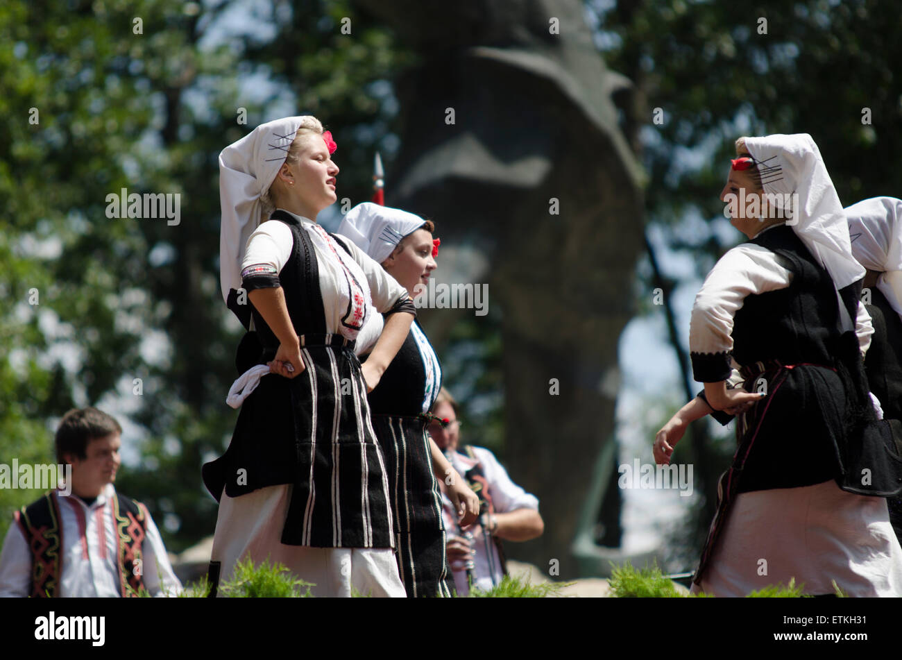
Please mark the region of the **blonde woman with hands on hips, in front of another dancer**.
[[[223, 298], [253, 332], [230, 392], [241, 402], [232, 442], [203, 469], [219, 500], [210, 573], [229, 579], [237, 561], [269, 558], [317, 596], [403, 597], [366, 392], [416, 312], [378, 263], [317, 224], [336, 201], [334, 151], [315, 117], [296, 116], [258, 126], [219, 157]], [[361, 365], [354, 347], [370, 300], [387, 318]]]

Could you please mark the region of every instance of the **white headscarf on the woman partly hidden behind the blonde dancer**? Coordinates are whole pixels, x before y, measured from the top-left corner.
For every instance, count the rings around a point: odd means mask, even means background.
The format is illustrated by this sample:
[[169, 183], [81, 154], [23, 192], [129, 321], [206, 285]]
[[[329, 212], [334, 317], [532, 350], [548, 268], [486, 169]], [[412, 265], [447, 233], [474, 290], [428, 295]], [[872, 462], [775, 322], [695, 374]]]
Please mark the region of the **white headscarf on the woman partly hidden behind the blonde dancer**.
[[419, 215], [400, 208], [364, 202], [347, 212], [336, 233], [347, 236], [373, 261], [382, 263], [405, 236], [425, 223]]

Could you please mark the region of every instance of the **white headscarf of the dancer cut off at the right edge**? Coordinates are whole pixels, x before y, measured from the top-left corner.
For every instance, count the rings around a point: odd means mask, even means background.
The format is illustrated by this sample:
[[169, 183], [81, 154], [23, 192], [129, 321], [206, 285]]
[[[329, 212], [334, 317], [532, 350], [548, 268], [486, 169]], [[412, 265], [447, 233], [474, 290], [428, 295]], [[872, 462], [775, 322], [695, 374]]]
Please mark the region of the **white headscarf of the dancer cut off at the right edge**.
[[871, 197], [845, 209], [851, 253], [877, 270], [877, 289], [902, 316], [902, 199]]

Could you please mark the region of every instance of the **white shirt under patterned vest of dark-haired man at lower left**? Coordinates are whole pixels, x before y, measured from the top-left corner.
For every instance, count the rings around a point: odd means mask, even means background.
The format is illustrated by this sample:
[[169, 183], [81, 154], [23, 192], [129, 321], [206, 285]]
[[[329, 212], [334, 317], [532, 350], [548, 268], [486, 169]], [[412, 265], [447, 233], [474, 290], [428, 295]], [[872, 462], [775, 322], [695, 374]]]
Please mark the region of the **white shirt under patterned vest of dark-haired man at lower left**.
[[[115, 488], [106, 484], [88, 506], [75, 495], [59, 496], [62, 526], [61, 597], [122, 596], [116, 560], [118, 544], [113, 518]], [[141, 544], [144, 587], [152, 596], [176, 596], [181, 590], [172, 571], [160, 531], [147, 512], [147, 530]], [[25, 598], [31, 594], [32, 553], [22, 528], [13, 523], [0, 553], [0, 597]]]

